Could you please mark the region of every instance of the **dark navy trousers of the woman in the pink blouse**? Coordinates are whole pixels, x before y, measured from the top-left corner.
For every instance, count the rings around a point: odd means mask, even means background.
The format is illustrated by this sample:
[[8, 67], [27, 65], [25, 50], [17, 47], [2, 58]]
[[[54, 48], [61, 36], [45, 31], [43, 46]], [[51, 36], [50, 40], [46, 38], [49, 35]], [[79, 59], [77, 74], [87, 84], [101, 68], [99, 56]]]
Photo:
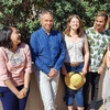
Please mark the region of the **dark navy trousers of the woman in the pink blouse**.
[[[16, 87], [18, 90], [21, 90], [23, 86]], [[0, 87], [0, 100], [3, 107], [3, 110], [24, 110], [28, 96], [23, 99], [18, 99], [18, 97], [8, 88]], [[29, 94], [28, 94], [29, 95]]]

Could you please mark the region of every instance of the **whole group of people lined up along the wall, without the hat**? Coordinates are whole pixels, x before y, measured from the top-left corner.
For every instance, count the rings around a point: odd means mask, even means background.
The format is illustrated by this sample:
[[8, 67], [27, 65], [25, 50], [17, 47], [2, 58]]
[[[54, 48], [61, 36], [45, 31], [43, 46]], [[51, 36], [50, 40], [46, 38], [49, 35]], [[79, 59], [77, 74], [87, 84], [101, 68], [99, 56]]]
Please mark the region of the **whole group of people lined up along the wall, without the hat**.
[[[38, 19], [41, 28], [32, 33], [30, 47], [21, 42], [21, 34], [15, 28], [4, 26], [0, 31], [0, 100], [3, 110], [25, 109], [32, 62], [44, 110], [56, 110], [61, 74], [67, 109], [74, 109], [75, 98], [77, 110], [97, 110], [98, 85], [105, 70], [107, 77], [103, 79], [102, 98], [109, 110], [109, 15], [103, 11], [98, 12], [94, 26], [84, 31], [81, 19], [72, 14], [63, 33], [53, 30], [51, 11], [42, 11]], [[69, 88], [65, 84], [65, 77], [70, 72], [85, 77], [85, 85], [78, 89]], [[90, 86], [91, 101], [88, 103]]]

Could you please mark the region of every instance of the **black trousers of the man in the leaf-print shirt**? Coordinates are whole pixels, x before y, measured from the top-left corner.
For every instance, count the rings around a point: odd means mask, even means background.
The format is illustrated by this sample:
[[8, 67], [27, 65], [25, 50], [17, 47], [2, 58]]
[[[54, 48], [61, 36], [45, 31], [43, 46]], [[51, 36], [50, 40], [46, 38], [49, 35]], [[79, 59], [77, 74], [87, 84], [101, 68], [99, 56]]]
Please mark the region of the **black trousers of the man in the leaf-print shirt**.
[[91, 101], [90, 101], [90, 109], [96, 109], [96, 102], [98, 97], [98, 89], [99, 89], [99, 79], [100, 75], [98, 73], [89, 72], [86, 75], [86, 84], [84, 86], [84, 106], [85, 110], [88, 108], [88, 100], [89, 100], [89, 91], [91, 89]]

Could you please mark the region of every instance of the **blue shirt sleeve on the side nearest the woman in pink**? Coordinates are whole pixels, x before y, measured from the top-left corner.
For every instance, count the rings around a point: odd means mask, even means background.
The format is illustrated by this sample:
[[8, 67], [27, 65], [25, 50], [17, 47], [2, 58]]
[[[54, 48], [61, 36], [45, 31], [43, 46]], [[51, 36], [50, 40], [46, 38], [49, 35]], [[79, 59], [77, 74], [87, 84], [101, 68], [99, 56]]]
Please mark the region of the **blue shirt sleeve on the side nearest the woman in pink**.
[[37, 41], [36, 41], [37, 34], [32, 34], [30, 40], [30, 46], [31, 46], [31, 54], [32, 54], [32, 61], [35, 63], [37, 68], [45, 73], [46, 75], [50, 73], [51, 68], [47, 67], [43, 61], [38, 57], [38, 47], [37, 47]]

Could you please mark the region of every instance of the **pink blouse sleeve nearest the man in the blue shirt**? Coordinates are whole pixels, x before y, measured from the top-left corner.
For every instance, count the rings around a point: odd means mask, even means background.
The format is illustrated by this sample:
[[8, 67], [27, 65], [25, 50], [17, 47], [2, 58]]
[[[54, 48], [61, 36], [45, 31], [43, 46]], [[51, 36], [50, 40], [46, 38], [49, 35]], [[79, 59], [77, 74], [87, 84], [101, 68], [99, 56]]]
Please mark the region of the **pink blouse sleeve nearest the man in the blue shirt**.
[[25, 57], [26, 57], [26, 65], [25, 65], [25, 73], [32, 73], [32, 59], [31, 59], [31, 52], [29, 45], [25, 45]]

